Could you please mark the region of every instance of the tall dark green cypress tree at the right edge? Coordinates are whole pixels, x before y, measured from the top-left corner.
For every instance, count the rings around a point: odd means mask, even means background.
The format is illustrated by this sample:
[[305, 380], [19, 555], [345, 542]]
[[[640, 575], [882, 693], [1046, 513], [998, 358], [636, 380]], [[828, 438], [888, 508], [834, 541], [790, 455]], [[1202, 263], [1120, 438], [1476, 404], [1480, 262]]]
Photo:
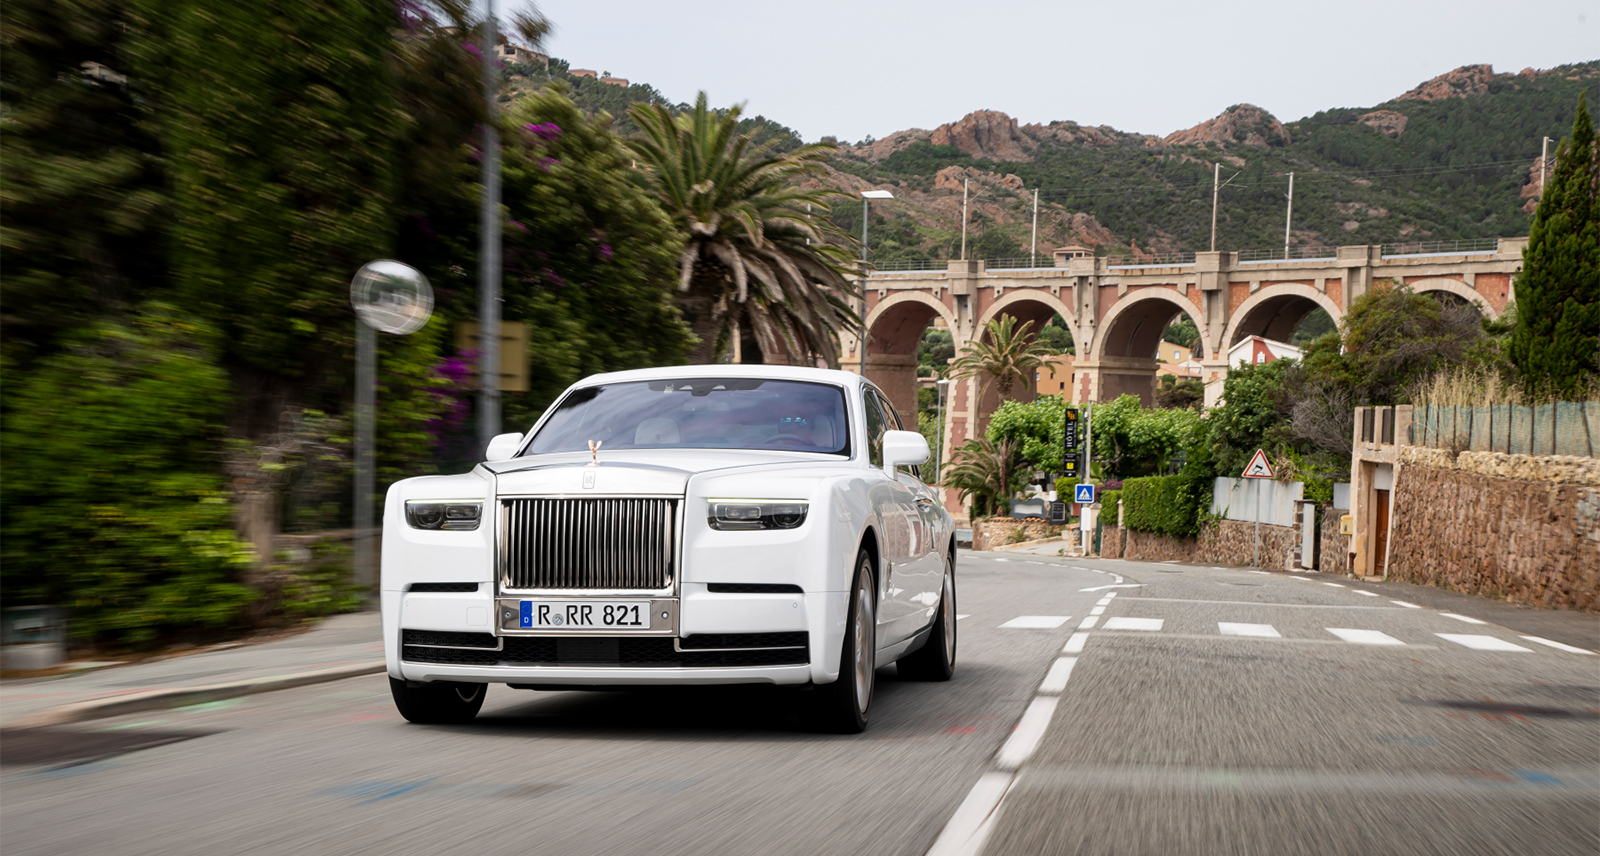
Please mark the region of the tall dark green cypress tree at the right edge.
[[1600, 371], [1600, 150], [1584, 101], [1555, 152], [1517, 278], [1510, 358], [1534, 395], [1578, 397]]

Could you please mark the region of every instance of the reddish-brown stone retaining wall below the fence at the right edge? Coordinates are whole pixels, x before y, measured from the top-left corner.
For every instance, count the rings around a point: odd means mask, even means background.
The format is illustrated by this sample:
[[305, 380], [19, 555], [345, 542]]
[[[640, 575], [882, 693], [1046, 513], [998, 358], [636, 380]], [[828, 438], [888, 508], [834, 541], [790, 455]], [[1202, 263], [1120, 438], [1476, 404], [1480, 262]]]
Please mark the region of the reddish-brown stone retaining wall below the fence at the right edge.
[[1493, 453], [1462, 453], [1451, 467], [1450, 458], [1405, 450], [1411, 462], [1395, 478], [1389, 576], [1530, 606], [1600, 611], [1600, 488], [1584, 483], [1592, 469], [1582, 459], [1536, 466]]

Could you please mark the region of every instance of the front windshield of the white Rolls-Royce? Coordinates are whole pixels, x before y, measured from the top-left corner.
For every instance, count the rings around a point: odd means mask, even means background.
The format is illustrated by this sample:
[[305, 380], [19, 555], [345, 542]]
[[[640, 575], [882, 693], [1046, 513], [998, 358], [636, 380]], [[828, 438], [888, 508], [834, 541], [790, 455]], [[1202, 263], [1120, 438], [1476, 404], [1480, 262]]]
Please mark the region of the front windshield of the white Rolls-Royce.
[[683, 378], [574, 389], [525, 454], [730, 448], [848, 454], [845, 390], [757, 378]]

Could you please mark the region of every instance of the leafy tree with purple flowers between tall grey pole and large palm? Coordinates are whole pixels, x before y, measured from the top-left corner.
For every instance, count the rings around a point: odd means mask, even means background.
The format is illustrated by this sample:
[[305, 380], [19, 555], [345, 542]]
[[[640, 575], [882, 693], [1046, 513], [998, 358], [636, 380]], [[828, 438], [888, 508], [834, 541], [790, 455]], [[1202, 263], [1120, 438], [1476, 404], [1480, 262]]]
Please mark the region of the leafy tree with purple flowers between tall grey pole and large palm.
[[683, 238], [610, 122], [549, 90], [517, 102], [504, 139], [506, 317], [528, 323], [533, 360], [507, 418], [526, 427], [573, 381], [677, 363], [691, 339], [672, 302]]

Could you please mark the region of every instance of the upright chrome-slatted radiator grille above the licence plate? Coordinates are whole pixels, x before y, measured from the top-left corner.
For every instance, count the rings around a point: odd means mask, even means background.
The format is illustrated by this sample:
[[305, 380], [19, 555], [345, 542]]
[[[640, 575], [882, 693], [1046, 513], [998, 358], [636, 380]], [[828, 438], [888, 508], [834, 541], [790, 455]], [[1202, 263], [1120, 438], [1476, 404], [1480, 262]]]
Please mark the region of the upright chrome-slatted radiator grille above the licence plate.
[[677, 499], [504, 499], [507, 589], [672, 584]]

